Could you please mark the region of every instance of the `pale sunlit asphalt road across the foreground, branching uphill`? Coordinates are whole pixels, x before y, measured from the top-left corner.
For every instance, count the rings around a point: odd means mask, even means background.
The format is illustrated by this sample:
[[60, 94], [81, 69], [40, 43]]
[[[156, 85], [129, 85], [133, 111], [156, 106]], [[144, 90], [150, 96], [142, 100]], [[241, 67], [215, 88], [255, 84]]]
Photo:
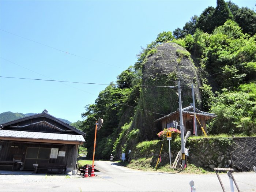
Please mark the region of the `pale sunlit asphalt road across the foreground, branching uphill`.
[[[3, 191], [175, 191], [189, 192], [189, 182], [195, 182], [198, 192], [222, 192], [216, 174], [184, 174], [143, 172], [119, 166], [115, 162], [95, 161], [96, 177], [79, 175], [46, 176], [45, 174], [0, 175]], [[256, 192], [256, 173], [233, 173], [240, 191]], [[229, 177], [220, 174], [225, 190], [230, 191]], [[234, 185], [235, 191], [237, 191]]]

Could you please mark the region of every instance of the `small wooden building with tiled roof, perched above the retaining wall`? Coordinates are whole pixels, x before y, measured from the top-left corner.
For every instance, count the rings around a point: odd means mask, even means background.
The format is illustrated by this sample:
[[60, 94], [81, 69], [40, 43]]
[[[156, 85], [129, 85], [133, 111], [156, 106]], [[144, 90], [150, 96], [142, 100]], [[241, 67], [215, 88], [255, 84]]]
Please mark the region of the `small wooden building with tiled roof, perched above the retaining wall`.
[[[191, 131], [191, 135], [195, 134], [193, 106], [183, 108], [182, 109], [182, 117], [183, 117], [183, 125], [185, 128], [184, 135], [187, 133], [187, 131]], [[207, 112], [200, 111], [199, 109], [196, 109], [196, 117], [200, 121], [200, 124], [204, 128], [204, 131], [207, 133], [206, 120], [208, 120], [210, 118], [214, 118], [216, 116], [213, 113], [207, 113]], [[201, 126], [200, 126], [198, 120], [196, 121], [197, 135], [203, 135], [203, 131], [201, 129]], [[166, 116], [156, 120], [156, 122], [161, 122], [162, 130], [164, 128], [174, 127], [173, 121], [176, 121], [176, 122], [180, 121], [179, 109], [177, 109], [177, 111], [175, 111], [175, 112], [170, 113], [169, 115], [166, 115]], [[178, 129], [180, 129], [180, 128], [178, 127]]]

